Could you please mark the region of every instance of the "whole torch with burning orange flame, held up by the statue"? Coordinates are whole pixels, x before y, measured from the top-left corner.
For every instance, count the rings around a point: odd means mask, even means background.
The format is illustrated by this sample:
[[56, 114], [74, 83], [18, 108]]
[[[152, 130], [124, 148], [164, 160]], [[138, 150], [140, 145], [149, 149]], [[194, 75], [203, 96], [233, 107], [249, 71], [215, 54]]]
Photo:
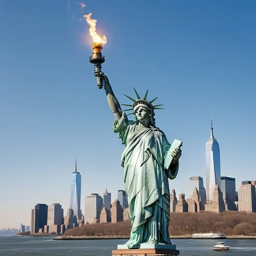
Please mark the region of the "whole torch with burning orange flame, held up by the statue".
[[[96, 19], [91, 19], [91, 12], [89, 14], [83, 15], [83, 17], [86, 18], [87, 23], [89, 24], [89, 32], [92, 36], [93, 43], [92, 43], [92, 54], [90, 56], [90, 63], [94, 64], [94, 71], [101, 72], [101, 63], [105, 61], [105, 57], [102, 55], [101, 50], [102, 46], [106, 43], [106, 37], [98, 35], [96, 30]], [[96, 75], [97, 78], [97, 85], [99, 89], [102, 89], [103, 82], [102, 82], [102, 76]]]

